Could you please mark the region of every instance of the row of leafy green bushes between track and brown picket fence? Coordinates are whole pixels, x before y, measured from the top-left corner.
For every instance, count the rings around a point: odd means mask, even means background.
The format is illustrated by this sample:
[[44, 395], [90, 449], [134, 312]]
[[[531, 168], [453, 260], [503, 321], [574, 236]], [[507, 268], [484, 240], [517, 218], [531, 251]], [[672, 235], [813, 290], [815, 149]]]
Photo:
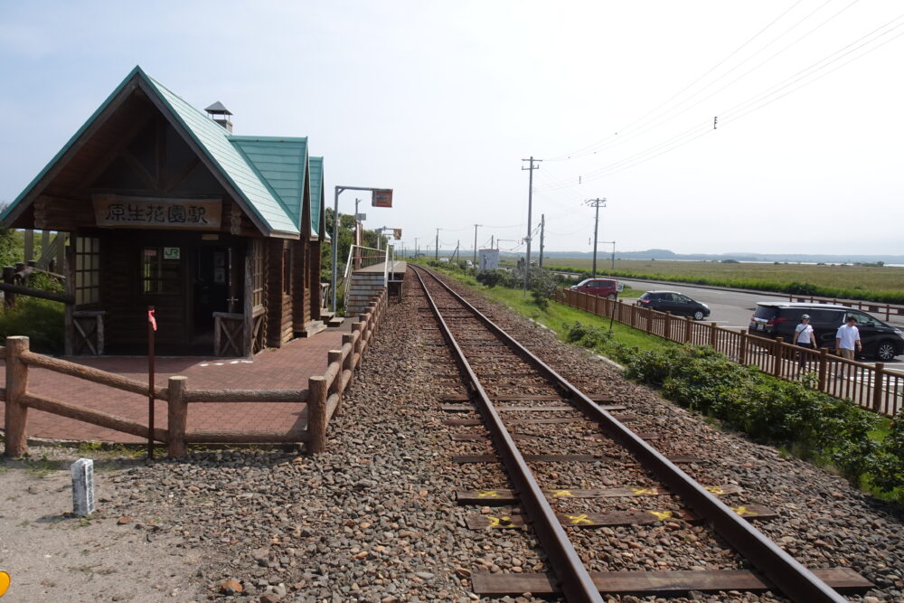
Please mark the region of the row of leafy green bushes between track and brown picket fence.
[[[567, 338], [596, 339], [581, 325], [573, 325]], [[815, 391], [808, 382], [785, 382], [755, 366], [733, 363], [710, 347], [623, 350], [619, 356], [628, 378], [659, 387], [665, 398], [758, 442], [831, 462], [852, 481], [865, 476], [880, 492], [904, 486], [904, 412], [877, 443], [870, 434], [880, 418], [869, 410]]]

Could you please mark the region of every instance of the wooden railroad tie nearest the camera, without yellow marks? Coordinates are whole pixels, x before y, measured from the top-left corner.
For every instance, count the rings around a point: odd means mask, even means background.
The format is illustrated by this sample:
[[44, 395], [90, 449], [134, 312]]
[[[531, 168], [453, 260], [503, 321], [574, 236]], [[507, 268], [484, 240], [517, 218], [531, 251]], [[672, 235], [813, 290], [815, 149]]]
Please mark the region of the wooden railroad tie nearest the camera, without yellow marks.
[[[816, 568], [810, 570], [833, 589], [843, 594], [866, 592], [873, 584], [850, 568]], [[600, 594], [617, 595], [683, 595], [692, 590], [714, 593], [740, 590], [765, 592], [773, 589], [750, 570], [704, 571], [591, 571], [590, 578]], [[556, 580], [546, 574], [505, 574], [475, 572], [471, 588], [476, 595], [520, 596], [553, 595], [560, 590], [553, 585]]]

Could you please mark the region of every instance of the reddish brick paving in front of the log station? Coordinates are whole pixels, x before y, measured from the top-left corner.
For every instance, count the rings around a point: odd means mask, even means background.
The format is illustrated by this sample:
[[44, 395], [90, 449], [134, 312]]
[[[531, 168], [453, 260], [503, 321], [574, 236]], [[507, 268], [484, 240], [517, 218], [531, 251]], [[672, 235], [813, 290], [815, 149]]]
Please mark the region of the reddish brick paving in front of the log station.
[[[351, 330], [328, 329], [313, 337], [296, 339], [277, 350], [267, 350], [248, 359], [193, 357], [160, 357], [156, 359], [155, 383], [166, 387], [173, 375], [188, 377], [189, 389], [304, 389], [307, 378], [323, 374], [326, 353], [342, 347], [342, 334]], [[67, 358], [71, 362], [93, 366], [108, 372], [147, 382], [146, 357], [117, 356]], [[5, 367], [0, 361], [0, 382], [5, 382]], [[82, 381], [45, 369], [30, 368], [28, 391], [52, 400], [102, 410], [126, 419], [147, 424], [147, 398], [114, 390], [97, 383]], [[0, 428], [4, 427], [5, 404], [0, 400]], [[307, 422], [305, 404], [278, 402], [192, 403], [188, 407], [189, 431], [231, 430], [273, 431], [285, 434], [304, 429]], [[155, 403], [155, 427], [166, 427], [166, 402]], [[141, 438], [101, 428], [74, 419], [66, 419], [40, 410], [28, 410], [29, 438], [139, 442]]]

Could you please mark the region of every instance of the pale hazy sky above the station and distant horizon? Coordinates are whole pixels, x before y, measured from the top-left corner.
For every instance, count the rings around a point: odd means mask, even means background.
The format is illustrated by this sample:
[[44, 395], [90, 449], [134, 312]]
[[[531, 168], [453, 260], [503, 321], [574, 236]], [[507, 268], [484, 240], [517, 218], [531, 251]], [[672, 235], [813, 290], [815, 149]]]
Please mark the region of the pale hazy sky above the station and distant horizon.
[[533, 156], [533, 254], [899, 254], [902, 58], [899, 0], [0, 0], [0, 202], [141, 65], [409, 249], [524, 250]]

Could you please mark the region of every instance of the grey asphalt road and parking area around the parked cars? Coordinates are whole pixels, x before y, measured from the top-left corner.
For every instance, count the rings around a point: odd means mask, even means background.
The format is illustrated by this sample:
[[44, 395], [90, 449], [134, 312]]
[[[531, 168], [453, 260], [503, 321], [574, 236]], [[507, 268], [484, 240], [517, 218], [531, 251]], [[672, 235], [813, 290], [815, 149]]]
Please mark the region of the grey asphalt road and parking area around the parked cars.
[[[619, 278], [625, 283], [626, 287], [633, 287], [645, 291], [677, 291], [688, 297], [692, 297], [699, 302], [710, 306], [711, 315], [706, 322], [714, 322], [719, 326], [729, 329], [746, 329], [750, 325], [750, 316], [753, 315], [754, 308], [758, 301], [788, 301], [786, 295], [777, 295], [769, 293], [746, 293], [731, 289], [713, 289], [708, 287], [694, 287], [692, 285], [683, 285], [682, 283], [651, 283], [642, 280], [627, 280]], [[629, 298], [625, 298], [629, 301]], [[634, 299], [630, 299], [634, 301]], [[904, 329], [904, 317], [893, 316], [886, 321], [885, 316], [873, 314], [880, 320], [887, 322], [889, 325], [897, 326]], [[859, 359], [864, 361], [864, 359]], [[904, 356], [899, 356], [891, 363], [897, 367], [904, 366]]]

